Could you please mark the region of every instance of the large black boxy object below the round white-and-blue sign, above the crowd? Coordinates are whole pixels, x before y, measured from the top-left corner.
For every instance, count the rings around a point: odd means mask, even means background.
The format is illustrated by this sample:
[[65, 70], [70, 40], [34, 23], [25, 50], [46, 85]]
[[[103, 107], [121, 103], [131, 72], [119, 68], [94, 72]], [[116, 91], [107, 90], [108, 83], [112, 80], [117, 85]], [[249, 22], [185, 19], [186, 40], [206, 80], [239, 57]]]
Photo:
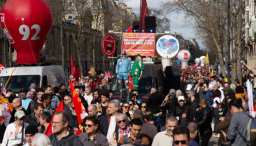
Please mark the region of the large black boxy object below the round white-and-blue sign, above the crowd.
[[180, 66], [166, 66], [165, 80], [164, 80], [164, 93], [169, 93], [170, 89], [175, 90], [181, 87], [181, 67]]

